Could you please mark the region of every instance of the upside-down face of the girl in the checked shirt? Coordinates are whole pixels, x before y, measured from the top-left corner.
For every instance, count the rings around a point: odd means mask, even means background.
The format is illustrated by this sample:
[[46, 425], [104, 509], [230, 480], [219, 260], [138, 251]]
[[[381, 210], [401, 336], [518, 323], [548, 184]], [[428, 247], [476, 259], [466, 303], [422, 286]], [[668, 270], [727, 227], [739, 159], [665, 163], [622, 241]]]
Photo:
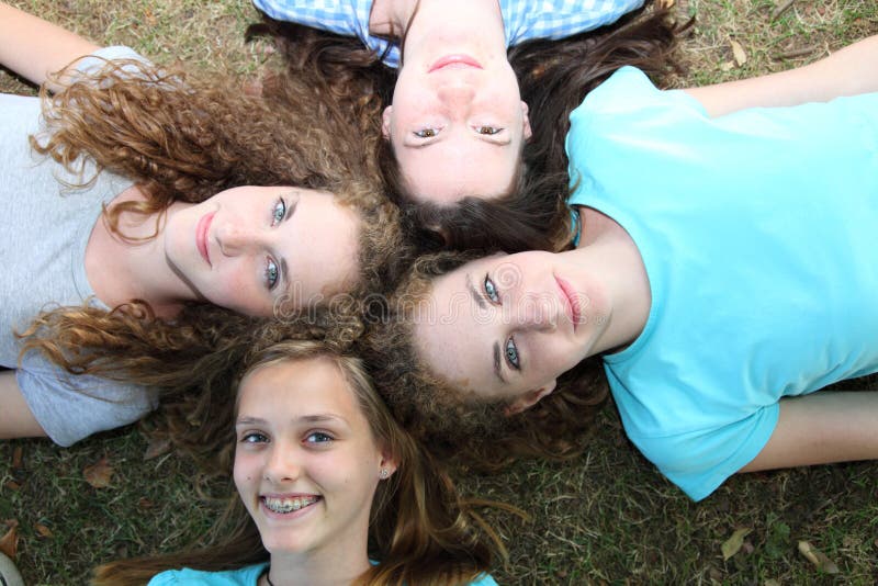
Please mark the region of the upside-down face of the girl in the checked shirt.
[[384, 135], [416, 201], [492, 199], [518, 172], [527, 112], [505, 58], [435, 54], [399, 70]]

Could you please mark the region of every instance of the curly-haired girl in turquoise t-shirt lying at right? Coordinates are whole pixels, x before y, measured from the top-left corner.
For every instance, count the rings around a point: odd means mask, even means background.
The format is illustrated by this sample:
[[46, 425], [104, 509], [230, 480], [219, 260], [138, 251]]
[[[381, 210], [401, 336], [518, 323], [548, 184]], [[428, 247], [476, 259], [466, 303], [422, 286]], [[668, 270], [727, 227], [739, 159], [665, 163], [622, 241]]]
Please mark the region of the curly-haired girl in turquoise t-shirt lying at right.
[[419, 260], [368, 337], [375, 380], [430, 433], [550, 457], [608, 380], [695, 499], [878, 458], [878, 392], [812, 394], [878, 371], [876, 55], [687, 91], [616, 72], [571, 115], [578, 246]]

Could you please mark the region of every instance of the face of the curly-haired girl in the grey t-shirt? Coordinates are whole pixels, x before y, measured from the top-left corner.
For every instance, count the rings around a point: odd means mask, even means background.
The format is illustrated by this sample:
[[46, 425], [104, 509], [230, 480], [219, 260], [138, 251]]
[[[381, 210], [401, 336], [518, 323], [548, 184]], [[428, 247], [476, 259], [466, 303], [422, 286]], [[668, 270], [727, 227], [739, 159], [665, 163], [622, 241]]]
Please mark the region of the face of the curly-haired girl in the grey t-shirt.
[[315, 305], [358, 279], [360, 221], [331, 193], [234, 188], [170, 211], [162, 234], [199, 298], [247, 315]]

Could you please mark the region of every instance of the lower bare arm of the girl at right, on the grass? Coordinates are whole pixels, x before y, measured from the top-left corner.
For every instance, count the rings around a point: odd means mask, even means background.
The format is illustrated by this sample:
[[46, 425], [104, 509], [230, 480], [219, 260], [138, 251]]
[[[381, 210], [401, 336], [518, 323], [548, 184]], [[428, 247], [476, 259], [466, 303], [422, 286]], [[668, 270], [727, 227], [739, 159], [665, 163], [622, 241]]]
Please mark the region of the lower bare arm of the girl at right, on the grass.
[[780, 401], [768, 443], [740, 472], [878, 459], [878, 391]]

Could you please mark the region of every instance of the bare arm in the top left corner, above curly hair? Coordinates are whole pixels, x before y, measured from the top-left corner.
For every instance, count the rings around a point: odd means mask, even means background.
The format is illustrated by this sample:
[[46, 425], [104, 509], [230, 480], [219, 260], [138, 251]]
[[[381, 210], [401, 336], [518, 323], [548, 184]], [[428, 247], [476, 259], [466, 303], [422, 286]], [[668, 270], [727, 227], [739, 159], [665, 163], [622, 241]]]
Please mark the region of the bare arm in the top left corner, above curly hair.
[[0, 64], [36, 84], [98, 48], [70, 31], [0, 3]]

